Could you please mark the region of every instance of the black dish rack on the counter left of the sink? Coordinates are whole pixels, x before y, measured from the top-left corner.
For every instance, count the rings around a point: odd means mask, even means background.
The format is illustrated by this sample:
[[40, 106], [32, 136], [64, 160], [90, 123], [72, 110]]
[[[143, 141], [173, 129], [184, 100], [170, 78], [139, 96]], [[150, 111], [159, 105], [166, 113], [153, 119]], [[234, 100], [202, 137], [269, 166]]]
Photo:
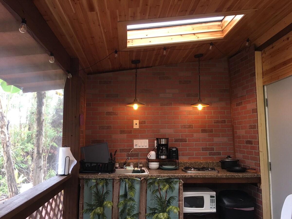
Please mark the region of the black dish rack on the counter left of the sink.
[[80, 161], [79, 173], [113, 173], [114, 163], [95, 163], [86, 162], [84, 160]]

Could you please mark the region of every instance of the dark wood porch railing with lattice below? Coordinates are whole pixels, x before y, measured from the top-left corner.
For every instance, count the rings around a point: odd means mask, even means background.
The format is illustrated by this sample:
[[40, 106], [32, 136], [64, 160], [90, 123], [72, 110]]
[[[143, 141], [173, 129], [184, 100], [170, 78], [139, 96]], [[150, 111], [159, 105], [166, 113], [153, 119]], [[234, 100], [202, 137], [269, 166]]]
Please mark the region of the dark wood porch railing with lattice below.
[[52, 214], [62, 215], [63, 190], [70, 177], [54, 176], [0, 203], [0, 218], [34, 218], [42, 212], [47, 213], [44, 218], [52, 218]]

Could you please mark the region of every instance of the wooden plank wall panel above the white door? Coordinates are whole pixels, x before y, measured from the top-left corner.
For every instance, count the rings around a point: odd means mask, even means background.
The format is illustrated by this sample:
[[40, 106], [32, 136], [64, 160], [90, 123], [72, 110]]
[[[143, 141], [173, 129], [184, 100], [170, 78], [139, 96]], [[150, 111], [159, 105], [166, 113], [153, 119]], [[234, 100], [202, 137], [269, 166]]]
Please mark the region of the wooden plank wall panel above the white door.
[[263, 85], [292, 75], [292, 32], [262, 52]]

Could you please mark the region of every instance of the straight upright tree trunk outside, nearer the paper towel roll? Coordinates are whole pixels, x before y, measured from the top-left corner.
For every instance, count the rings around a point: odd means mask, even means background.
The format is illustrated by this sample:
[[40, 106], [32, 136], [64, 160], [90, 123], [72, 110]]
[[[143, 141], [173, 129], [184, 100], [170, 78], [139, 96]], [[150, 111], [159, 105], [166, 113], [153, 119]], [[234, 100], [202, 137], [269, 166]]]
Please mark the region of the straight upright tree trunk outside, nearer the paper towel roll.
[[32, 185], [43, 181], [44, 99], [45, 91], [36, 92], [36, 138], [34, 141], [34, 171]]

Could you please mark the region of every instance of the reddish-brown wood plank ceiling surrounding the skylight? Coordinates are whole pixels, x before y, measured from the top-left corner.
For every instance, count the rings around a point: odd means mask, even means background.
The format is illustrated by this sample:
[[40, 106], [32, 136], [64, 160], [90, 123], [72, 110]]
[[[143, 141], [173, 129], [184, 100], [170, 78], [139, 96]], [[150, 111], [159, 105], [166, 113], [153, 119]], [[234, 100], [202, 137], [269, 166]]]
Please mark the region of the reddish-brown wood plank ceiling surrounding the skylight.
[[[69, 57], [79, 58], [80, 67], [84, 68], [87, 74], [133, 69], [131, 60], [134, 59], [141, 60], [138, 68], [144, 68], [193, 62], [196, 61], [194, 55], [197, 53], [204, 54], [201, 60], [227, 58], [236, 53], [242, 43], [241, 49], [244, 49], [244, 41], [247, 38], [258, 47], [292, 23], [290, 0], [6, 0], [6, 2], [11, 2], [9, 3], [11, 8], [17, 8], [14, 11], [20, 17], [30, 18], [27, 19], [31, 22], [27, 22], [27, 27], [31, 25], [34, 31], [39, 32], [43, 31], [41, 30], [43, 28], [37, 27], [35, 25], [37, 19], [33, 19], [37, 13], [32, 8], [36, 6], [37, 12], [62, 46], [56, 46], [52, 42], [48, 44], [46, 40], [40, 41], [46, 48], [50, 48], [49, 51], [54, 52], [55, 59], [64, 69], [67, 70], [68, 67], [68, 61], [62, 60], [66, 53]], [[120, 21], [241, 10], [250, 10], [250, 13], [247, 13], [223, 40], [171, 46], [161, 42], [159, 46], [120, 51], [124, 49], [118, 33]], [[208, 50], [211, 42], [218, 49], [213, 47], [211, 51]], [[167, 48], [166, 55], [163, 55], [164, 46]], [[60, 47], [65, 48], [65, 52], [56, 51]], [[114, 57], [115, 50], [119, 51], [117, 58]], [[62, 55], [59, 54], [61, 52]]]

